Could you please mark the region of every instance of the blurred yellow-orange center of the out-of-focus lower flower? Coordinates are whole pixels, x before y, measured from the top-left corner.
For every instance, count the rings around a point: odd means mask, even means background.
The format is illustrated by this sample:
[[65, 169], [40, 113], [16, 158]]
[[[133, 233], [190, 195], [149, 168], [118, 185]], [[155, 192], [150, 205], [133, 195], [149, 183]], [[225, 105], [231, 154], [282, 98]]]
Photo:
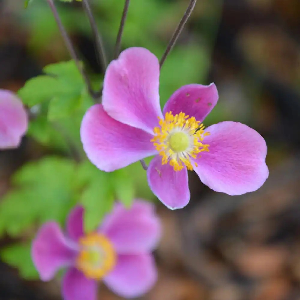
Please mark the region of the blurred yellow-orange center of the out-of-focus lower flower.
[[90, 233], [79, 239], [79, 245], [76, 267], [86, 277], [101, 279], [116, 265], [115, 250], [104, 235]]

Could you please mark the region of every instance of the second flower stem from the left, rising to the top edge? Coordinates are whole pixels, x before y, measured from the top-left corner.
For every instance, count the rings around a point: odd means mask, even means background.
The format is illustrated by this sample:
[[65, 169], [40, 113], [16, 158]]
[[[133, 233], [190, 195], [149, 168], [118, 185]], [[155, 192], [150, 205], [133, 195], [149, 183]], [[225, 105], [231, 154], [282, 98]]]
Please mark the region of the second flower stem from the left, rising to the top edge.
[[96, 43], [98, 60], [102, 63], [104, 73], [105, 73], [105, 70], [107, 68], [107, 58], [106, 58], [106, 54], [105, 54], [102, 37], [98, 30], [98, 27], [97, 27], [96, 21], [94, 19], [90, 4], [88, 3], [88, 0], [82, 0], [82, 6], [88, 16], [88, 20], [90, 22], [93, 36], [94, 36], [95, 43]]

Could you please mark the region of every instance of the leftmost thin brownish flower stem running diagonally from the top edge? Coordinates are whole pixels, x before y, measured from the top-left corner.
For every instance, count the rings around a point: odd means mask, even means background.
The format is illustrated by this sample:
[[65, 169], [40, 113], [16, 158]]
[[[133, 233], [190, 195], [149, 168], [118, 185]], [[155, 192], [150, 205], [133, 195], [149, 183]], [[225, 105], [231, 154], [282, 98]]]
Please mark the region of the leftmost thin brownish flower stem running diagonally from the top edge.
[[69, 38], [69, 36], [67, 34], [66, 29], [64, 28], [64, 26], [63, 26], [63, 24], [61, 22], [61, 19], [59, 18], [58, 11], [56, 10], [55, 4], [54, 4], [53, 0], [47, 0], [47, 2], [49, 4], [49, 6], [50, 6], [50, 9], [51, 9], [51, 11], [53, 13], [53, 16], [55, 18], [56, 24], [58, 26], [58, 29], [59, 29], [59, 31], [61, 33], [61, 36], [62, 36], [63, 40], [64, 40], [64, 44], [66, 45], [66, 47], [67, 47], [67, 49], [68, 49], [68, 51], [70, 53], [71, 58], [73, 59], [73, 61], [75, 62], [76, 66], [77, 66], [77, 68], [79, 70], [79, 72], [81, 73], [81, 75], [83, 77], [83, 80], [85, 81], [85, 85], [86, 85], [89, 93], [91, 94], [91, 96], [93, 98], [95, 98], [94, 97], [94, 91], [91, 88], [91, 82], [88, 79], [88, 75], [87, 75], [84, 67], [80, 64], [80, 61], [79, 61], [79, 59], [77, 57], [77, 54], [75, 52], [75, 49], [73, 47], [73, 44], [72, 44], [72, 42], [71, 42], [71, 40], [70, 40], [70, 38]]

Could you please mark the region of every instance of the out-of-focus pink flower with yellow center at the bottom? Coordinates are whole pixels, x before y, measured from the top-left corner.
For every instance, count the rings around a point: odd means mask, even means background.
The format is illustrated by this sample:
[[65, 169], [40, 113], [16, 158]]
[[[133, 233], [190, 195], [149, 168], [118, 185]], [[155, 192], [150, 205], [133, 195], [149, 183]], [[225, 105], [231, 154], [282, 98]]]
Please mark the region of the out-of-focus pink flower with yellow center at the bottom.
[[55, 222], [45, 223], [32, 243], [32, 260], [44, 281], [67, 268], [62, 281], [65, 300], [96, 300], [97, 281], [123, 297], [146, 293], [156, 282], [151, 251], [160, 238], [154, 205], [135, 200], [130, 209], [116, 204], [96, 232], [84, 234], [81, 206], [67, 219], [64, 235]]

